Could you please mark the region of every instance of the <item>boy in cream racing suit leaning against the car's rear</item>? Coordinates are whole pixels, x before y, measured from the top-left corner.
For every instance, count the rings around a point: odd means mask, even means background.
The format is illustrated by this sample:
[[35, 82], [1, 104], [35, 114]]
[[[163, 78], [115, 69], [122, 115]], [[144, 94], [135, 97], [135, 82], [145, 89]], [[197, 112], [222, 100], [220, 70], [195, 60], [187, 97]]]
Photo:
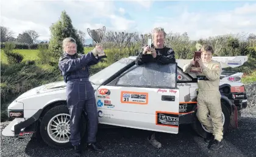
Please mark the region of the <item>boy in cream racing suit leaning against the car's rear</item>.
[[[196, 61], [201, 66], [201, 73], [196, 73], [199, 93], [197, 95], [197, 118], [205, 126], [205, 128], [213, 134], [205, 138], [208, 142], [208, 148], [218, 150], [222, 147], [222, 109], [221, 94], [219, 92], [219, 79], [221, 75], [221, 64], [212, 60], [213, 48], [210, 45], [203, 45], [201, 48], [201, 59]], [[184, 65], [183, 72], [190, 72], [192, 60], [190, 64]], [[210, 110], [210, 119], [208, 113]]]

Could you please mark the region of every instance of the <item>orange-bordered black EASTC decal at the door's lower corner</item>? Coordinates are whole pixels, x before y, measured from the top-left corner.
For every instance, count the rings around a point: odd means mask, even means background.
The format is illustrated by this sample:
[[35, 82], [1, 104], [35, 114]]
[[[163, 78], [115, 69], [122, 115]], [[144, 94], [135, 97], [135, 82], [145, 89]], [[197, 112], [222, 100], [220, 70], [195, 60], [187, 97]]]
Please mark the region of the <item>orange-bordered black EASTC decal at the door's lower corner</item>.
[[179, 127], [179, 113], [155, 112], [155, 124], [168, 127]]

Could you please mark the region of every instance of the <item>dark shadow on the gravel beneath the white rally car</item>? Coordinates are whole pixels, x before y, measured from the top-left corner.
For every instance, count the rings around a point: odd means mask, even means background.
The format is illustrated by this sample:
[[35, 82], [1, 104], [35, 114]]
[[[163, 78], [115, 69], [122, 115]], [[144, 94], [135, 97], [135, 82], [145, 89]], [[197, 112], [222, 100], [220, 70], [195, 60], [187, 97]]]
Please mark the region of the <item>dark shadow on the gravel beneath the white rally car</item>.
[[[96, 153], [85, 150], [84, 156], [207, 156], [194, 142], [194, 136], [197, 135], [190, 125], [180, 126], [180, 133], [177, 135], [157, 133], [157, 138], [162, 142], [162, 149], [154, 149], [148, 144], [146, 136], [149, 133], [146, 130], [122, 127], [99, 129], [97, 139], [104, 151]], [[25, 152], [28, 156], [38, 157], [72, 156], [71, 149], [52, 149], [41, 140], [30, 140]]]

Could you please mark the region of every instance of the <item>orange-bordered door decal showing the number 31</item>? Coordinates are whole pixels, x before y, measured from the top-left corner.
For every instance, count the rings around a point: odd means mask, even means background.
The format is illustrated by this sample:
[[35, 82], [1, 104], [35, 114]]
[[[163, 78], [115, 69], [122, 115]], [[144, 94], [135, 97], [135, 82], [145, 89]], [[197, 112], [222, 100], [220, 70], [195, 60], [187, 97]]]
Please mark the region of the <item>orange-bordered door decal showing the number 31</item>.
[[148, 93], [121, 91], [121, 103], [123, 104], [148, 104]]

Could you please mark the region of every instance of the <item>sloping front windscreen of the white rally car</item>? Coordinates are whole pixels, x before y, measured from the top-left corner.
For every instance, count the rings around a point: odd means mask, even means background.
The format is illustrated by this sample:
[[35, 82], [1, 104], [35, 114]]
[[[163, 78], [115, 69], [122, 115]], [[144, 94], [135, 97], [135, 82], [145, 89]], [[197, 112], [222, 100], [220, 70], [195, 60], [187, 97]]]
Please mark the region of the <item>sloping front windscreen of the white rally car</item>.
[[133, 59], [128, 59], [128, 58], [119, 59], [119, 61], [116, 61], [115, 63], [102, 69], [98, 73], [95, 73], [94, 75], [90, 76], [89, 80], [95, 85], [100, 85], [102, 84], [102, 82], [106, 81], [108, 78], [115, 75], [116, 72], [126, 67], [133, 61], [134, 61]]

